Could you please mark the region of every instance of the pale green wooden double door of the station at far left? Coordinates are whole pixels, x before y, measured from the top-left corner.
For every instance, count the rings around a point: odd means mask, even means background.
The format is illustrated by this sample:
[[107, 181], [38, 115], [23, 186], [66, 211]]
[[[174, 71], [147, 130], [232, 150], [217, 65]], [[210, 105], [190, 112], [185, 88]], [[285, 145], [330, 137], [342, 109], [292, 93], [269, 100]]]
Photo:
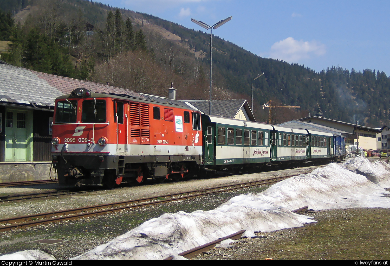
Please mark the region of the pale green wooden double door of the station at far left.
[[5, 114], [5, 161], [27, 161], [27, 112], [7, 110]]

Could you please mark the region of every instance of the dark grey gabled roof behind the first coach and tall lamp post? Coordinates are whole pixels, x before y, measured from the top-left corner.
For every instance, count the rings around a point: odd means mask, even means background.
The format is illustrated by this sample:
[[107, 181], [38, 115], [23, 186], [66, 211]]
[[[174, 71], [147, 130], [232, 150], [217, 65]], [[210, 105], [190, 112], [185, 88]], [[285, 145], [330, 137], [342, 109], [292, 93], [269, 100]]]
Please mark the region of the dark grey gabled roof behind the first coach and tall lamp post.
[[[209, 100], [185, 100], [204, 114], [209, 114]], [[211, 115], [234, 118], [246, 100], [213, 100]]]

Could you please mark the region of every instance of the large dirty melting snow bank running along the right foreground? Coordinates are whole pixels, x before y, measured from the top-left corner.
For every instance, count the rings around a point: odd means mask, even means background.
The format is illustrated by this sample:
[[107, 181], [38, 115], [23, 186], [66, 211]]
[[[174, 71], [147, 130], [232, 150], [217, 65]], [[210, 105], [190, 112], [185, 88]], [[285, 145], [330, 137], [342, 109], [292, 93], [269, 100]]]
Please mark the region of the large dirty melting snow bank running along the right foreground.
[[[259, 194], [239, 195], [211, 211], [177, 212], [142, 223], [137, 228], [73, 259], [181, 259], [180, 252], [239, 230], [300, 227], [315, 222], [291, 210], [304, 205], [315, 210], [390, 207], [390, 165], [371, 164], [364, 157], [328, 164], [307, 175], [283, 180]], [[358, 174], [360, 173], [360, 174]], [[371, 181], [370, 181], [371, 180]]]

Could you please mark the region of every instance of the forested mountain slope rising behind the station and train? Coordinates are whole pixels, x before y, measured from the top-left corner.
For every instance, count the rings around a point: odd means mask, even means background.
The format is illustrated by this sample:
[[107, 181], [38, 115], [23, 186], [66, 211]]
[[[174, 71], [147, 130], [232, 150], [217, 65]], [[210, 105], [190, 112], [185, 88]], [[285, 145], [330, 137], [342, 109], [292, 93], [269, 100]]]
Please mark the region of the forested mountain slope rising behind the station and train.
[[[2, 60], [162, 96], [173, 81], [179, 98], [208, 98], [208, 34], [87, 0], [0, 0], [0, 9], [0, 17], [10, 11], [16, 21], [9, 36], [0, 34], [0, 41], [13, 41], [11, 53], [3, 54]], [[0, 31], [6, 28], [1, 25]], [[261, 104], [272, 99], [301, 106], [301, 111], [275, 113], [276, 123], [314, 114], [318, 107], [326, 118], [352, 123], [356, 119], [373, 127], [386, 122], [390, 79], [383, 72], [333, 66], [316, 72], [259, 57], [216, 36], [213, 51], [216, 98], [250, 102], [251, 79], [264, 72], [254, 82], [258, 121], [268, 119]]]

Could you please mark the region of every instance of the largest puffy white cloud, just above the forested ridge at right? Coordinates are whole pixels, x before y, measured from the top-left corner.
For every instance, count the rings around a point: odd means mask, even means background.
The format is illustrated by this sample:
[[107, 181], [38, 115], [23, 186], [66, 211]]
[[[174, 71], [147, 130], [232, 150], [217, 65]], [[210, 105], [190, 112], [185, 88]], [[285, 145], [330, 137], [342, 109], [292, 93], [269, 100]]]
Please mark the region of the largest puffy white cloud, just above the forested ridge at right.
[[274, 59], [283, 59], [287, 62], [296, 62], [301, 59], [323, 55], [326, 52], [325, 45], [317, 41], [297, 41], [288, 37], [271, 46], [270, 55]]

